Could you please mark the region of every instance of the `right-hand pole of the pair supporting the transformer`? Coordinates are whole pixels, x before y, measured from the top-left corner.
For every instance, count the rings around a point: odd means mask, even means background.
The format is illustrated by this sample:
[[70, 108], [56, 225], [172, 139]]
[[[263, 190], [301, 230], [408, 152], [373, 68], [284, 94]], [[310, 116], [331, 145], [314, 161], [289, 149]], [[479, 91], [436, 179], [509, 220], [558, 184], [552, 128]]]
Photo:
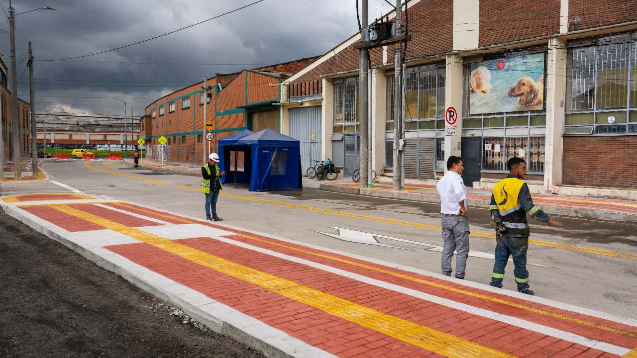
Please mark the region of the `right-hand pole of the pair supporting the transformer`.
[[[401, 0], [396, 0], [396, 35], [401, 34], [401, 17], [403, 6]], [[403, 64], [401, 63], [401, 42], [396, 42], [396, 75], [394, 75], [394, 169], [392, 169], [392, 190], [402, 190], [404, 183], [401, 177], [402, 148], [399, 150], [399, 140], [403, 137], [402, 106], [403, 106]], [[402, 141], [400, 141], [402, 143]]]

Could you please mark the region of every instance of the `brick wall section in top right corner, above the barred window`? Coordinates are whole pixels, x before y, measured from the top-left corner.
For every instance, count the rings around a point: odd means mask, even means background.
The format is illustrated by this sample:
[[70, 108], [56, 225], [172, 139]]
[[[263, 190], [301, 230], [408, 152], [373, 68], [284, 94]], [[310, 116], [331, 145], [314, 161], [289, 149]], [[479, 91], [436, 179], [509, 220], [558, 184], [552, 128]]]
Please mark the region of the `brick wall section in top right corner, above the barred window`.
[[637, 20], [637, 4], [631, 0], [570, 0], [570, 20], [582, 17], [580, 24], [572, 24], [569, 31], [590, 29], [603, 25]]

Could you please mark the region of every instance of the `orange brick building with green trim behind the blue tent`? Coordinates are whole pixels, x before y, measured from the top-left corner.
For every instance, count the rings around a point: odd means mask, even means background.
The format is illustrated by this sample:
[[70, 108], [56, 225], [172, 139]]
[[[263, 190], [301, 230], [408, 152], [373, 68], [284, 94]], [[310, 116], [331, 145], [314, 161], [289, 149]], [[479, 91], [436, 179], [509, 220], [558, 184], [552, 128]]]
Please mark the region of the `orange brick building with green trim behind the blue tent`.
[[[283, 62], [208, 78], [206, 121], [214, 124], [215, 139], [204, 135], [204, 83], [199, 82], [161, 97], [147, 106], [141, 120], [141, 138], [147, 143], [147, 157], [190, 164], [206, 162], [203, 155], [217, 151], [217, 141], [236, 132], [270, 128], [280, 131], [280, 83], [305, 68], [317, 57]], [[158, 140], [164, 136], [165, 145]], [[165, 152], [162, 153], [161, 151]]]

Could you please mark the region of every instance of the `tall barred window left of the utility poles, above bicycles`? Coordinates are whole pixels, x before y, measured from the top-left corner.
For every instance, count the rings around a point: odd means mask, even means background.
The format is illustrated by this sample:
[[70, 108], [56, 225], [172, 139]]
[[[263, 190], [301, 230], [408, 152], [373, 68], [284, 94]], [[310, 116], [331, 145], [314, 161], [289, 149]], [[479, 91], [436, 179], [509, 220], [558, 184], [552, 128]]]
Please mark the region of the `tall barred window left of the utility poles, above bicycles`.
[[357, 132], [358, 113], [361, 105], [358, 76], [333, 83], [333, 87], [334, 133]]

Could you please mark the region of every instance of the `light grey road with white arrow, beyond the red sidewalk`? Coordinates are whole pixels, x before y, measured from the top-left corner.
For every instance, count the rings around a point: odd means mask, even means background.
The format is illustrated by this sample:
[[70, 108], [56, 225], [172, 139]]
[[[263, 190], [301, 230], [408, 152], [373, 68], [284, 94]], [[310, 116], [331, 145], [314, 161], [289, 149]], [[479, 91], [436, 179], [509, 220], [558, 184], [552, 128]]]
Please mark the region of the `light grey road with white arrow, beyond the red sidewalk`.
[[[54, 161], [45, 164], [43, 169], [51, 180], [87, 194], [204, 217], [199, 176], [132, 168], [115, 161]], [[1, 188], [3, 196], [69, 192], [52, 182], [5, 183]], [[223, 224], [433, 272], [440, 272], [440, 252], [430, 250], [431, 245], [442, 245], [440, 231], [436, 229], [440, 226], [439, 212], [437, 204], [315, 189], [248, 192], [246, 187], [234, 189], [230, 185], [222, 191], [218, 202], [218, 214], [224, 218]], [[488, 211], [469, 208], [469, 217], [473, 233], [471, 248], [492, 254], [495, 241], [490, 237], [493, 226]], [[529, 266], [529, 283], [536, 295], [637, 319], [637, 289], [631, 284], [637, 281], [636, 261], [622, 257], [622, 254], [637, 255], [637, 226], [578, 218], [559, 220], [564, 222], [563, 227], [531, 222], [534, 243], [529, 247], [529, 262], [541, 265]], [[343, 229], [373, 233], [375, 238], [369, 236], [371, 241], [367, 243], [348, 241], [342, 236], [347, 233]], [[378, 243], [394, 247], [382, 247]], [[587, 252], [582, 252], [582, 248]], [[54, 259], [52, 257], [52, 261]], [[41, 264], [46, 261], [48, 259], [39, 260]], [[466, 278], [488, 283], [492, 265], [493, 261], [488, 257], [469, 257]], [[510, 264], [505, 275], [505, 289], [508, 290], [515, 290], [512, 271]], [[19, 270], [16, 273], [21, 274]], [[69, 278], [69, 287], [89, 285], [92, 289], [87, 280], [73, 282], [72, 279]], [[112, 283], [107, 286], [115, 287]], [[96, 299], [96, 296], [90, 297]], [[152, 297], [146, 299], [152, 302]], [[104, 307], [108, 306], [104, 304]], [[113, 306], [117, 307], [117, 304]], [[129, 316], [121, 317], [125, 320]], [[120, 322], [120, 315], [112, 319]], [[179, 322], [176, 326], [181, 327]], [[197, 330], [192, 331], [195, 333]]]

